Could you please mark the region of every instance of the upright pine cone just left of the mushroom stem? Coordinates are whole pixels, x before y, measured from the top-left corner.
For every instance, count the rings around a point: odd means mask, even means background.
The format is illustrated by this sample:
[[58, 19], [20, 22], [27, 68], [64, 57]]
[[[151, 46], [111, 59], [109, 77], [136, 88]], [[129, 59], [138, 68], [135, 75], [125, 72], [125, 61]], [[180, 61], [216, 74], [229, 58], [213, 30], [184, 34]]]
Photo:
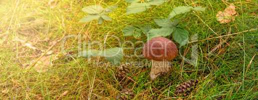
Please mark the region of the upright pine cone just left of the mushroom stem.
[[128, 68], [128, 64], [121, 64], [120, 67], [116, 69], [115, 77], [121, 80], [129, 72], [130, 72], [130, 69]]

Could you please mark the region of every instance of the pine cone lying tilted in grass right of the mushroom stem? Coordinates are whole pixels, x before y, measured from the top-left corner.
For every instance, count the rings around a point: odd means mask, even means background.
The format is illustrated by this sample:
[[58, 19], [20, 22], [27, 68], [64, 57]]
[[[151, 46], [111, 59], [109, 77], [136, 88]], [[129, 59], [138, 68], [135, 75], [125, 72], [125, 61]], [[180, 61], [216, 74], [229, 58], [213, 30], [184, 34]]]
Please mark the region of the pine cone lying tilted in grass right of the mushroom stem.
[[175, 89], [175, 94], [183, 94], [183, 96], [187, 96], [190, 94], [190, 92], [192, 91], [192, 89], [194, 88], [194, 86], [196, 86], [196, 84], [198, 83], [198, 80], [189, 80], [186, 82], [181, 83], [180, 85], [178, 85]]

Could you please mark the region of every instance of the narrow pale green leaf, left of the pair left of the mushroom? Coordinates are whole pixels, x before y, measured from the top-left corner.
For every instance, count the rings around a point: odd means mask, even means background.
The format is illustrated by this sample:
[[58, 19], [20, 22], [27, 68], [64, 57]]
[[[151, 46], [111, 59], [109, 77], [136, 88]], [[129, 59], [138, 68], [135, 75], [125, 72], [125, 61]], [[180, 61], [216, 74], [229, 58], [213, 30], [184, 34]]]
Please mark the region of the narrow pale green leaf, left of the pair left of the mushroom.
[[99, 52], [98, 50], [94, 50], [94, 49], [89, 49], [89, 50], [83, 50], [78, 52], [77, 57], [91, 57], [91, 56], [99, 56], [101, 52]]

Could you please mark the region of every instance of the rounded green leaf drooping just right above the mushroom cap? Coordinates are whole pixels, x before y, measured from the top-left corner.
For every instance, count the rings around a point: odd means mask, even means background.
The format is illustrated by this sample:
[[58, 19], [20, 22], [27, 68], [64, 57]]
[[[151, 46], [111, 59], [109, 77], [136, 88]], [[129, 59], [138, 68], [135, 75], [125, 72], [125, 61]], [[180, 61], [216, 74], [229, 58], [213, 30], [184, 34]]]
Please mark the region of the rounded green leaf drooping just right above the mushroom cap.
[[178, 42], [180, 46], [183, 46], [188, 42], [188, 31], [183, 28], [176, 27], [172, 35], [173, 39]]

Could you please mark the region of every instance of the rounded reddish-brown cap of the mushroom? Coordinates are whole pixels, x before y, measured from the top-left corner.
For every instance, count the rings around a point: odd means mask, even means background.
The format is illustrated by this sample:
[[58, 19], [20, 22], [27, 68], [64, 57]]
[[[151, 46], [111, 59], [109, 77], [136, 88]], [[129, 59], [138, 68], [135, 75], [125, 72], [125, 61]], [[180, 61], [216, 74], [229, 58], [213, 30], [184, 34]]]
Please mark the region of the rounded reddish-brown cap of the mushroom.
[[173, 41], [165, 37], [154, 37], [143, 46], [143, 56], [149, 60], [171, 60], [177, 55], [177, 48]]

